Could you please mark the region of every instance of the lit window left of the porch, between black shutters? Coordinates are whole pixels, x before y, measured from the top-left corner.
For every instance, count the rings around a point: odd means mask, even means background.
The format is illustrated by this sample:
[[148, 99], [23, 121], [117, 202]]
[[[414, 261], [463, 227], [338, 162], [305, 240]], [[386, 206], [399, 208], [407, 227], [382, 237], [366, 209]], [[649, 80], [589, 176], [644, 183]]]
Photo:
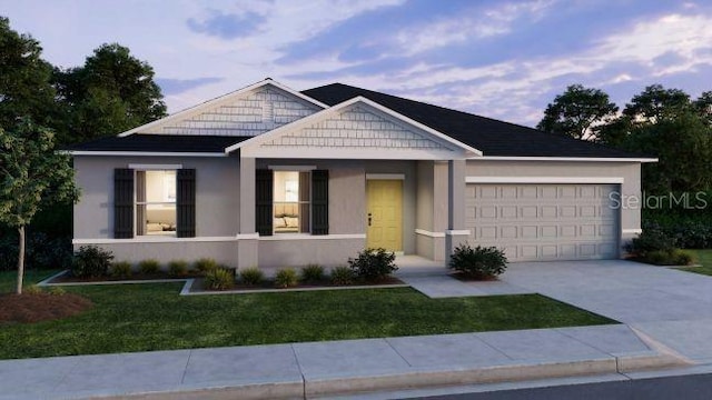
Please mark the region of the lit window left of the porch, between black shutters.
[[136, 234], [176, 236], [176, 171], [136, 171]]

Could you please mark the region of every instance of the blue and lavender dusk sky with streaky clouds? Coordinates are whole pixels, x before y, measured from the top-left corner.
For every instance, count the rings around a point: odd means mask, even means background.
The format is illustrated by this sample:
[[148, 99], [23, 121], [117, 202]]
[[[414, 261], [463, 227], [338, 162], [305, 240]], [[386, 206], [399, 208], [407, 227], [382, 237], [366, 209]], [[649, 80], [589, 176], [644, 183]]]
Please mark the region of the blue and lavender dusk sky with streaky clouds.
[[574, 83], [621, 108], [653, 83], [712, 90], [709, 0], [0, 0], [0, 16], [63, 68], [128, 47], [171, 113], [267, 77], [531, 127]]

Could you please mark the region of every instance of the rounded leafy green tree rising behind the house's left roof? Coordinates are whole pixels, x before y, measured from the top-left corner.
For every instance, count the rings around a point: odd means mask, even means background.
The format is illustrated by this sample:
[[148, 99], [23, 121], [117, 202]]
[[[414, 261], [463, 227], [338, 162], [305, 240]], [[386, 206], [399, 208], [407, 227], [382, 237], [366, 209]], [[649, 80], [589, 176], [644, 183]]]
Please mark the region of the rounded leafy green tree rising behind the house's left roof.
[[166, 116], [154, 69], [118, 43], [100, 46], [83, 67], [56, 69], [55, 82], [68, 116], [61, 142], [116, 134]]

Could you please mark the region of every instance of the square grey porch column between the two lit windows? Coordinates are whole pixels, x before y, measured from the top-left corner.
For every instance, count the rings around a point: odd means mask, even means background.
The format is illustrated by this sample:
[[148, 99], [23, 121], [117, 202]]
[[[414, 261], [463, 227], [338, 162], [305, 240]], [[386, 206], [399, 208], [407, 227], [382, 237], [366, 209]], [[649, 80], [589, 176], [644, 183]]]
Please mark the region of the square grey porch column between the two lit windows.
[[255, 231], [255, 159], [241, 156], [239, 218], [237, 268], [257, 267], [259, 236]]

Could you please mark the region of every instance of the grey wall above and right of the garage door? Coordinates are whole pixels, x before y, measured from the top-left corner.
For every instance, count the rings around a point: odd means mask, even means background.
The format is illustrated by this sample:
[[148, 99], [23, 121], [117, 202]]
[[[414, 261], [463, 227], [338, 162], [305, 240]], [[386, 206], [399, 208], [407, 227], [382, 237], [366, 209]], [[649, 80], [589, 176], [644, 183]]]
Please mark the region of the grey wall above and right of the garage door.
[[[641, 198], [641, 164], [639, 162], [583, 161], [468, 161], [466, 177], [561, 177], [623, 178], [621, 196]], [[621, 239], [624, 244], [641, 228], [640, 209], [620, 209]]]

